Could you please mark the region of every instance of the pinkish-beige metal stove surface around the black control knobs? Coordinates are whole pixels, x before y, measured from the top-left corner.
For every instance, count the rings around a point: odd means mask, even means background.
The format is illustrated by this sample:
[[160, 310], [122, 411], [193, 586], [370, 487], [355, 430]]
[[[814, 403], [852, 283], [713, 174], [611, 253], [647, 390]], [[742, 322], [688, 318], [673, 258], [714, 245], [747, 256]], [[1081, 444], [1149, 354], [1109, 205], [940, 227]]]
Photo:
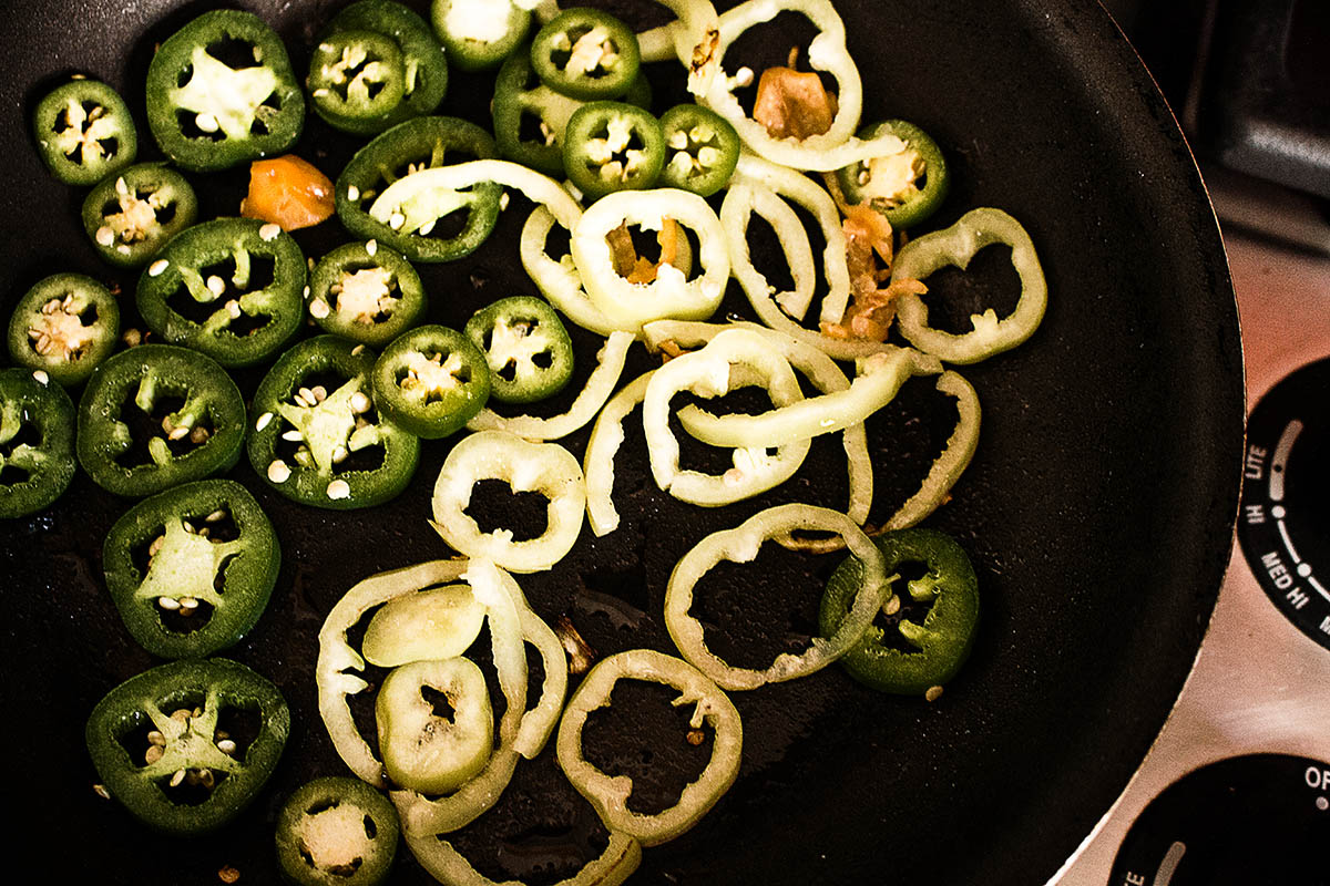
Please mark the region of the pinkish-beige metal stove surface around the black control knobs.
[[[1228, 230], [1224, 243], [1250, 412], [1277, 381], [1330, 356], [1330, 256]], [[1049, 886], [1108, 886], [1123, 840], [1160, 792], [1206, 764], [1250, 753], [1330, 761], [1330, 650], [1275, 608], [1234, 545], [1209, 631], [1168, 723], [1123, 796]], [[1330, 826], [1330, 810], [1319, 801], [1317, 808]], [[1145, 881], [1129, 875], [1125, 882]]]

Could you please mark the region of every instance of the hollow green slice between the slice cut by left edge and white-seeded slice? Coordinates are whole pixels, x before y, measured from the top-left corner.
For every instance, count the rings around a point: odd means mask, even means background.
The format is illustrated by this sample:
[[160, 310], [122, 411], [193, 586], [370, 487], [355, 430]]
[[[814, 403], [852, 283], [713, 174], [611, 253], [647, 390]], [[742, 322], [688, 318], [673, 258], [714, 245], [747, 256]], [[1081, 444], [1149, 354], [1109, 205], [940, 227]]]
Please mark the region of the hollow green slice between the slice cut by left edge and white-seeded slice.
[[235, 383], [188, 348], [122, 351], [97, 367], [78, 401], [78, 464], [116, 495], [152, 495], [227, 470], [243, 440]]

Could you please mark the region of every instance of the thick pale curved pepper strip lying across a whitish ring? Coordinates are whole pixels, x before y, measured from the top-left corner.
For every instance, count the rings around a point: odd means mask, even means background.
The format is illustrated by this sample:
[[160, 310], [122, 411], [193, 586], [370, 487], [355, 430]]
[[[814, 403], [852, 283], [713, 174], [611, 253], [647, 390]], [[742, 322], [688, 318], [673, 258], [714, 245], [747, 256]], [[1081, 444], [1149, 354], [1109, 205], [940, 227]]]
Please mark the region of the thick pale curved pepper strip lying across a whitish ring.
[[936, 357], [896, 348], [863, 361], [862, 375], [847, 391], [799, 400], [755, 416], [713, 416], [698, 406], [684, 406], [684, 429], [712, 446], [779, 446], [818, 434], [830, 434], [863, 421], [895, 399], [911, 376], [942, 372]]

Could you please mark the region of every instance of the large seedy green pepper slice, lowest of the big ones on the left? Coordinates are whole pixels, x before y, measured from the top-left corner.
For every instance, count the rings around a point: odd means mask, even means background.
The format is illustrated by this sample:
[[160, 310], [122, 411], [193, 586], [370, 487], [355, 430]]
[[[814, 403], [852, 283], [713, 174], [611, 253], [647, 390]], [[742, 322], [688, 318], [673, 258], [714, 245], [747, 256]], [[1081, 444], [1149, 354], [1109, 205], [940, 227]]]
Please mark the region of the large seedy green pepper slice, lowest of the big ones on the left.
[[[234, 712], [257, 716], [247, 744], [229, 735]], [[254, 800], [290, 732], [291, 712], [267, 679], [227, 659], [184, 659], [108, 692], [85, 739], [112, 797], [148, 826], [186, 837], [221, 828]]]

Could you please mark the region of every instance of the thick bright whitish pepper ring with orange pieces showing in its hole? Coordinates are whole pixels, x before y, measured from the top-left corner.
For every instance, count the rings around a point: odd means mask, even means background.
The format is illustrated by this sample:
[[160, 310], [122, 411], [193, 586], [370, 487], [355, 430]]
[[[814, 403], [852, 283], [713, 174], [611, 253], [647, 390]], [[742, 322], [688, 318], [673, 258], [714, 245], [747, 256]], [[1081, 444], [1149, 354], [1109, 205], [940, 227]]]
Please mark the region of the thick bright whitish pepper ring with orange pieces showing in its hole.
[[[620, 224], [661, 230], [666, 219], [690, 227], [701, 243], [702, 275], [662, 264], [652, 283], [629, 283], [614, 271], [605, 236]], [[730, 254], [721, 221], [690, 191], [661, 187], [617, 191], [596, 201], [572, 234], [572, 255], [591, 303], [613, 323], [641, 327], [652, 320], [705, 320], [716, 313], [730, 276]]]

